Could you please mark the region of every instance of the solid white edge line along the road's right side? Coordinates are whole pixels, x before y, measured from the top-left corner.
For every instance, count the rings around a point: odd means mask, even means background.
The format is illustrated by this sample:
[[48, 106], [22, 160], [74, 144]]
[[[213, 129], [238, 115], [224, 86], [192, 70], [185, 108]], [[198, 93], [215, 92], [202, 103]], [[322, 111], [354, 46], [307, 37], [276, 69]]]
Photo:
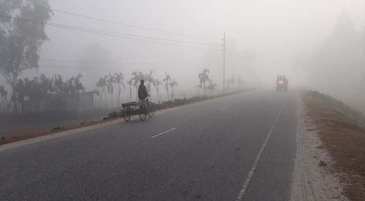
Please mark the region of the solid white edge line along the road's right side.
[[285, 102], [284, 102], [284, 104], [282, 105], [282, 107], [281, 107], [281, 109], [280, 109], [279, 114], [278, 114], [278, 115], [277, 115], [277, 117], [276, 117], [276, 120], [275, 120], [275, 122], [274, 122], [274, 125], [272, 125], [272, 127], [271, 127], [271, 129], [270, 129], [269, 134], [267, 134], [267, 137], [266, 137], [266, 139], [265, 139], [264, 143], [263, 143], [263, 144], [262, 144], [262, 146], [261, 146], [260, 152], [259, 152], [259, 154], [257, 155], [257, 157], [256, 157], [256, 159], [255, 159], [255, 162], [253, 163], [253, 165], [252, 165], [252, 167], [251, 167], [250, 171], [249, 171], [249, 172], [248, 172], [248, 174], [247, 174], [247, 177], [246, 177], [246, 179], [245, 179], [245, 182], [242, 184], [242, 188], [241, 188], [240, 192], [238, 193], [238, 196], [237, 196], [236, 201], [241, 201], [241, 200], [242, 200], [242, 196], [245, 194], [246, 188], [247, 188], [248, 184], [250, 183], [251, 177], [252, 177], [252, 175], [253, 175], [253, 173], [254, 173], [254, 171], [255, 171], [255, 169], [256, 169], [257, 163], [259, 162], [259, 160], [260, 160], [260, 158], [261, 158], [261, 154], [262, 154], [262, 152], [264, 151], [264, 149], [265, 149], [265, 147], [266, 147], [266, 143], [267, 143], [267, 141], [268, 141], [268, 140], [269, 140], [269, 138], [270, 138], [270, 135], [271, 135], [271, 133], [272, 133], [272, 130], [274, 130], [274, 127], [275, 127], [275, 125], [276, 125], [276, 123], [277, 123], [277, 120], [279, 119], [279, 117], [280, 117], [280, 115], [281, 115], [281, 112], [282, 112], [282, 110], [283, 110], [283, 108], [284, 108], [285, 104], [286, 104], [286, 99], [285, 99]]

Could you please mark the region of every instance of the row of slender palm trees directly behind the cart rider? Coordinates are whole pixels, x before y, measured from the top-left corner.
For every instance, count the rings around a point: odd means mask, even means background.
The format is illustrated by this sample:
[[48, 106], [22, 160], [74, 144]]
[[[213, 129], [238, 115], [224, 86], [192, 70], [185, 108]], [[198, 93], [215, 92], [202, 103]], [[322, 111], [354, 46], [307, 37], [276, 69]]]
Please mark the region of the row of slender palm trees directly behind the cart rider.
[[[165, 82], [165, 89], [167, 90], [167, 98], [169, 100], [170, 95], [169, 95], [169, 86], [172, 89], [172, 94], [171, 94], [171, 98], [174, 99], [174, 87], [177, 86], [177, 81], [172, 79], [170, 74], [168, 74], [167, 72], [165, 72], [166, 76], [163, 80], [160, 80], [159, 78], [155, 79], [153, 77], [153, 73], [154, 71], [151, 70], [149, 73], [143, 73], [141, 71], [133, 71], [131, 73], [131, 78], [126, 81], [125, 83], [129, 85], [129, 96], [128, 99], [131, 102], [132, 101], [132, 86], [135, 88], [136, 91], [136, 95], [135, 95], [135, 99], [138, 99], [138, 85], [139, 85], [139, 81], [141, 79], [144, 79], [144, 84], [147, 87], [147, 90], [149, 91], [149, 94], [151, 95], [150, 99], [152, 100], [152, 87], [156, 88], [157, 90], [157, 96], [158, 96], [158, 102], [161, 102], [161, 94], [159, 92], [159, 85], [161, 85], [163, 82]], [[118, 94], [116, 96], [117, 99], [117, 104], [120, 105], [120, 93], [121, 93], [121, 86], [123, 87], [123, 89], [125, 89], [125, 85], [124, 85], [124, 74], [122, 72], [120, 73], [110, 73], [107, 75], [104, 75], [103, 77], [99, 78], [99, 81], [96, 83], [96, 86], [99, 88], [99, 90], [95, 90], [96, 94], [100, 94], [102, 92], [104, 92], [104, 108], [109, 108], [109, 95], [107, 95], [107, 93], [110, 94], [110, 102], [111, 102], [111, 107], [114, 108], [114, 104], [113, 104], [113, 94], [114, 94], [114, 85], [117, 84], [118, 85]], [[100, 106], [100, 108], [102, 108], [102, 102], [103, 102], [103, 97], [102, 95], [100, 96], [99, 99], [99, 103], [98, 105]]]

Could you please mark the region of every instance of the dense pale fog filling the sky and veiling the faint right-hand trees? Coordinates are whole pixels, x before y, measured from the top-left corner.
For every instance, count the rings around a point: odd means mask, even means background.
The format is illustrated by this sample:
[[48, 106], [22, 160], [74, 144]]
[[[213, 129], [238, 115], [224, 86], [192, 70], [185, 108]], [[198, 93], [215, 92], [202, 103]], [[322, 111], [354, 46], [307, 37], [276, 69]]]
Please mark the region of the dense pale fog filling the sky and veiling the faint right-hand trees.
[[[23, 2], [39, 5], [46, 1]], [[365, 112], [362, 0], [49, 0], [48, 4], [51, 9], [135, 27], [54, 11], [49, 23], [107, 32], [101, 35], [45, 25], [49, 40], [39, 48], [39, 68], [24, 70], [19, 78], [32, 79], [44, 73], [49, 77], [60, 74], [67, 79], [81, 73], [85, 91], [93, 91], [98, 89], [100, 77], [122, 72], [125, 89], [121, 90], [121, 98], [126, 101], [127, 81], [133, 71], [147, 74], [153, 70], [153, 77], [160, 80], [168, 73], [178, 83], [176, 94], [196, 94], [195, 86], [200, 84], [198, 73], [208, 68], [209, 78], [219, 91], [223, 88], [221, 49], [225, 32], [227, 79], [242, 76], [245, 87], [274, 90], [276, 76], [286, 75], [291, 90], [301, 86], [318, 89]], [[7, 16], [2, 9], [0, 15]], [[12, 87], [3, 75], [0, 85], [9, 91], [10, 98]], [[152, 90], [156, 93], [155, 88]], [[160, 85], [160, 92], [166, 96], [164, 84]]]

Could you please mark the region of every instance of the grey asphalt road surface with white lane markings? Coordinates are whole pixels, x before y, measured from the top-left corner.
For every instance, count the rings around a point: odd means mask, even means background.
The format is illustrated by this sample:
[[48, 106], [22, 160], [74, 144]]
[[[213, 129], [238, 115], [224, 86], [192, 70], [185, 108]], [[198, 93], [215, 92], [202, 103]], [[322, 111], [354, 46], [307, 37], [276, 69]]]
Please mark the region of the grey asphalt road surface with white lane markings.
[[0, 200], [288, 200], [297, 92], [253, 90], [0, 152]]

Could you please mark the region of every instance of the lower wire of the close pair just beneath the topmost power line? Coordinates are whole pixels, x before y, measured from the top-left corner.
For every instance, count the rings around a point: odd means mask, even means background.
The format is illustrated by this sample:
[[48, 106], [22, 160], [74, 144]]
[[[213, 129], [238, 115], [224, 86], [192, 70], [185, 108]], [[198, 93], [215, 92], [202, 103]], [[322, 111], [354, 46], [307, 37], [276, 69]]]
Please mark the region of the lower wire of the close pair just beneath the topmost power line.
[[26, 22], [31, 22], [31, 23], [38, 23], [38, 24], [54, 26], [54, 27], [60, 27], [60, 28], [65, 28], [65, 29], [78, 30], [78, 31], [83, 31], [83, 32], [90, 32], [90, 33], [95, 33], [95, 34], [100, 34], [100, 35], [114, 36], [114, 37], [118, 37], [118, 38], [130, 39], [130, 40], [158, 43], [158, 44], [164, 44], [164, 45], [172, 45], [172, 46], [180, 46], [180, 47], [187, 47], [187, 48], [194, 48], [194, 49], [221, 50], [221, 49], [213, 49], [213, 48], [203, 48], [203, 47], [194, 47], [194, 46], [187, 46], [187, 45], [178, 45], [178, 44], [165, 43], [165, 42], [159, 42], [159, 41], [149, 41], [149, 40], [143, 40], [143, 39], [138, 39], [138, 38], [130, 38], [130, 37], [125, 37], [125, 36], [117, 36], [117, 35], [105, 34], [105, 33], [100, 33], [100, 32], [95, 32], [95, 31], [76, 29], [76, 28], [72, 28], [72, 27], [67, 27], [67, 25], [64, 25], [64, 26], [54, 25], [54, 24], [50, 24], [50, 23], [47, 23], [47, 22], [36, 21], [36, 20], [28, 20], [28, 19], [24, 19], [24, 18], [16, 18], [16, 17], [3, 16], [3, 15], [0, 15], [0, 17], [14, 19], [14, 20], [21, 20], [21, 21], [26, 21]]

